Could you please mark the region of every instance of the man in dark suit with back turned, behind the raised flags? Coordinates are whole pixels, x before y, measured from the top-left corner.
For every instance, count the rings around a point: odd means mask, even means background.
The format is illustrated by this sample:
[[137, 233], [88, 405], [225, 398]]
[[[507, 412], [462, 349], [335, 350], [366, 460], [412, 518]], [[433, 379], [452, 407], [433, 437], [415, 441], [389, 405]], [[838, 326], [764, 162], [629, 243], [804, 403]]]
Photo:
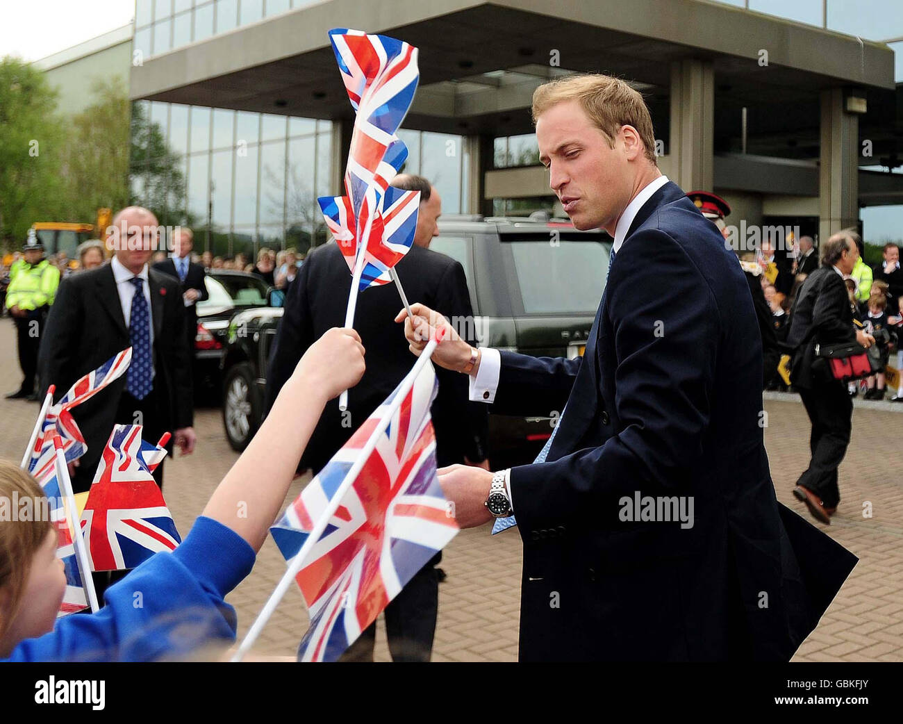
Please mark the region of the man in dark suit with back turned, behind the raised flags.
[[[396, 272], [411, 299], [429, 299], [450, 319], [473, 320], [464, 269], [446, 255], [427, 248], [438, 236], [436, 219], [442, 200], [423, 177], [399, 175], [393, 186], [420, 191], [420, 208], [414, 246], [396, 265]], [[342, 327], [351, 274], [337, 244], [312, 251], [304, 261], [285, 300], [285, 313], [270, 357], [266, 376], [266, 408], [273, 404], [304, 351], [331, 327]], [[410, 372], [412, 360], [402, 328], [394, 322], [400, 304], [395, 284], [361, 292], [354, 328], [367, 348], [367, 371], [349, 390], [349, 406], [340, 413], [337, 404], [326, 406], [301, 459], [302, 468], [319, 471], [349, 440], [379, 404]], [[473, 325], [465, 335], [473, 339]], [[489, 469], [484, 440], [488, 426], [486, 406], [468, 402], [467, 381], [448, 370], [437, 369], [439, 393], [433, 403], [436, 459], [440, 467], [470, 463]], [[386, 633], [393, 660], [429, 661], [438, 609], [439, 573], [435, 563], [441, 553], [414, 575], [386, 608]], [[343, 660], [372, 661], [376, 624], [368, 627], [344, 654]]]

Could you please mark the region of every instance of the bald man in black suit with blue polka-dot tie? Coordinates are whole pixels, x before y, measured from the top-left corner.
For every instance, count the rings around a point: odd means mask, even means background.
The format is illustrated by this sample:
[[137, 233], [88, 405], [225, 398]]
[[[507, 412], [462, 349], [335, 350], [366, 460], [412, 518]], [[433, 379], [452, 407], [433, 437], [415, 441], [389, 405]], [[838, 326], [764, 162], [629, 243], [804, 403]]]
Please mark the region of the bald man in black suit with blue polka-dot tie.
[[[107, 228], [109, 264], [66, 277], [57, 292], [41, 343], [42, 395], [58, 396], [79, 377], [132, 347], [125, 375], [79, 404], [72, 416], [88, 444], [77, 461], [72, 487], [90, 487], [113, 425], [142, 424], [144, 440], [172, 433], [172, 444], [194, 450], [191, 367], [185, 342], [185, 304], [179, 282], [148, 267], [159, 227], [141, 207], [121, 210]], [[163, 465], [154, 471], [163, 486]]]

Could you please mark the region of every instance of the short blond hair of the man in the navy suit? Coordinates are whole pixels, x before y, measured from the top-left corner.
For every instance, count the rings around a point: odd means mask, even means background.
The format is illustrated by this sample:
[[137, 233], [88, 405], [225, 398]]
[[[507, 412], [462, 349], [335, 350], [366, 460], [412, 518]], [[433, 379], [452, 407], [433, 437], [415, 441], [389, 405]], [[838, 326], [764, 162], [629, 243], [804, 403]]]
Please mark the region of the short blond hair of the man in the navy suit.
[[586, 74], [568, 76], [536, 88], [533, 92], [533, 123], [549, 108], [575, 100], [590, 116], [590, 120], [615, 147], [615, 136], [624, 125], [637, 130], [644, 153], [652, 165], [656, 162], [656, 135], [652, 130], [652, 116], [646, 101], [638, 91], [611, 76]]

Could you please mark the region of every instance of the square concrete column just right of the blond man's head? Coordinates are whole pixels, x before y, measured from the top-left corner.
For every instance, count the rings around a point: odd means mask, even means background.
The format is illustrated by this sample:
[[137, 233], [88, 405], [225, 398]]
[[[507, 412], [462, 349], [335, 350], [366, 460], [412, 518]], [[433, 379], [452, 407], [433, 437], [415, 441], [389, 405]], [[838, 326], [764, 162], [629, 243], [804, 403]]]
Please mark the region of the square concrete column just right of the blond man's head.
[[671, 64], [671, 135], [668, 156], [671, 181], [684, 191], [714, 186], [715, 83], [711, 60], [676, 60]]

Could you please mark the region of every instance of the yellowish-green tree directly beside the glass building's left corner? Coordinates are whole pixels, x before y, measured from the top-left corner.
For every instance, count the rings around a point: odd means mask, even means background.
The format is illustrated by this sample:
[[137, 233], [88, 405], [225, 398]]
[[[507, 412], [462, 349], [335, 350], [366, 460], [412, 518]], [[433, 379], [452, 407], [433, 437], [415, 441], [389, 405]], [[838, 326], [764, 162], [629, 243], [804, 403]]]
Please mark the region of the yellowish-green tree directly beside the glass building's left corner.
[[99, 208], [129, 201], [130, 104], [119, 77], [95, 81], [91, 93], [97, 100], [71, 120], [62, 175], [67, 216], [93, 223]]

